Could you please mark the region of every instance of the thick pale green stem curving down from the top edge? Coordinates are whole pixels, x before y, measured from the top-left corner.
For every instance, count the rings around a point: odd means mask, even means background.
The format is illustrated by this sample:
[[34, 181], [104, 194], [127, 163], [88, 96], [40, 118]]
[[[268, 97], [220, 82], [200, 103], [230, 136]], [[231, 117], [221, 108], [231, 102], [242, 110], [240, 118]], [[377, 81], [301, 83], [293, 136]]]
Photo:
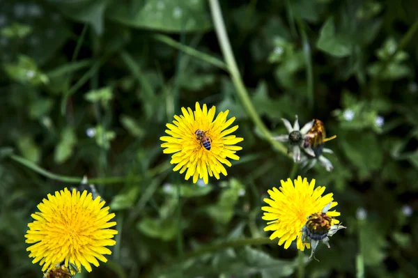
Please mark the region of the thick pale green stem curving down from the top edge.
[[228, 65], [229, 75], [231, 75], [232, 82], [235, 86], [235, 91], [242, 102], [242, 106], [245, 108], [247, 114], [251, 117], [252, 121], [254, 121], [256, 127], [261, 131], [263, 137], [266, 140], [270, 141], [270, 143], [276, 150], [279, 150], [280, 153], [287, 155], [286, 147], [279, 141], [272, 140], [272, 134], [270, 134], [268, 128], [264, 125], [263, 121], [261, 121], [260, 116], [258, 116], [257, 111], [251, 102], [251, 98], [249, 98], [249, 94], [244, 86], [244, 82], [242, 82], [242, 78], [240, 75], [240, 71], [238, 70], [235, 57], [233, 56], [231, 43], [229, 43], [229, 38], [225, 29], [224, 19], [222, 18], [222, 11], [219, 7], [219, 1], [209, 0], [209, 5], [210, 11], [212, 13], [213, 24], [215, 25], [215, 31], [219, 40], [219, 45], [222, 49], [222, 54], [224, 55], [226, 65]]

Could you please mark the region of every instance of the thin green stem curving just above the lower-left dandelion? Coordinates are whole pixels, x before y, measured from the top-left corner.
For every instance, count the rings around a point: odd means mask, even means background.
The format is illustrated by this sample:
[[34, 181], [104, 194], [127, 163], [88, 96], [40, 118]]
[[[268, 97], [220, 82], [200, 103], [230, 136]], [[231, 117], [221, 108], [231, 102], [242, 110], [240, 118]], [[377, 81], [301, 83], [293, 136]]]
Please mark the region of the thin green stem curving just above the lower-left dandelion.
[[[26, 160], [24, 157], [20, 157], [19, 155], [10, 155], [10, 159], [14, 160], [15, 162], [19, 162], [23, 166], [36, 171], [36, 173], [39, 173], [42, 176], [45, 176], [47, 178], [50, 178], [52, 180], [59, 180], [63, 183], [81, 183], [83, 178], [80, 177], [74, 177], [74, 176], [61, 176], [57, 175], [56, 173], [49, 172], [41, 167], [39, 167], [37, 164], [31, 162], [31, 160]], [[158, 165], [157, 167], [150, 170], [151, 176], [157, 176], [157, 174], [162, 173], [164, 171], [167, 171], [171, 165], [166, 162], [163, 164]], [[136, 177], [107, 177], [107, 178], [89, 178], [88, 183], [100, 183], [102, 185], [109, 184], [109, 183], [126, 183], [126, 182], [132, 182], [132, 183], [139, 183], [142, 180], [144, 180], [144, 177], [142, 176], [136, 176]]]

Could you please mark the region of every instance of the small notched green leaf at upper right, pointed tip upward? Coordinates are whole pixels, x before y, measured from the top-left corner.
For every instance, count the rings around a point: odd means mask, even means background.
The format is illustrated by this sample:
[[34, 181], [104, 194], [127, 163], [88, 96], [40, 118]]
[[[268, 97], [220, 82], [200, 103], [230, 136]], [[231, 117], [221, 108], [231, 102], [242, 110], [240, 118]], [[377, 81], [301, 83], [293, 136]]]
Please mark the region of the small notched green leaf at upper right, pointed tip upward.
[[345, 57], [351, 54], [352, 45], [348, 38], [336, 33], [334, 17], [328, 18], [320, 29], [316, 47], [332, 56]]

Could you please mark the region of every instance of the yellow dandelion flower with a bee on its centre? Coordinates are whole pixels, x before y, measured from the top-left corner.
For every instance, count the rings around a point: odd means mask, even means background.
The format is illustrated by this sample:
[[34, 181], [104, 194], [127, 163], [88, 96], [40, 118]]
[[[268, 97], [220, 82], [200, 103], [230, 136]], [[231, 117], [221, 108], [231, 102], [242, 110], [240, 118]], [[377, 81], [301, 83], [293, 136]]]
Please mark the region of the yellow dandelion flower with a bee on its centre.
[[[220, 112], [215, 121], [215, 106], [208, 110], [206, 105], [201, 109], [199, 102], [196, 102], [196, 108], [181, 108], [183, 115], [174, 116], [173, 124], [167, 123], [165, 132], [170, 136], [160, 137], [160, 140], [167, 143], [161, 144], [164, 153], [173, 153], [171, 164], [177, 164], [173, 171], [184, 173], [185, 180], [193, 177], [193, 183], [198, 178], [203, 178], [208, 183], [208, 176], [215, 176], [219, 179], [219, 173], [227, 175], [224, 165], [231, 167], [232, 160], [239, 160], [235, 155], [237, 150], [242, 147], [235, 146], [238, 142], [244, 140], [235, 135], [229, 135], [238, 129], [238, 125], [228, 128], [235, 117], [226, 121], [229, 110]], [[228, 136], [227, 136], [228, 135]]]

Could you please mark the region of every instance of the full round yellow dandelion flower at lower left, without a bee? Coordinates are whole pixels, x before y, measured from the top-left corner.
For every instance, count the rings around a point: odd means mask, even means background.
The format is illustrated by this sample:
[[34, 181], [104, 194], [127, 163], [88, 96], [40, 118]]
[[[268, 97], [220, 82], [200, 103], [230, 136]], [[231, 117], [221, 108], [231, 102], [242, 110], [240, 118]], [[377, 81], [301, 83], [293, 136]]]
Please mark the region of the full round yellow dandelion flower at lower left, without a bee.
[[118, 231], [108, 229], [116, 225], [109, 222], [115, 217], [104, 207], [100, 196], [93, 200], [91, 193], [84, 190], [70, 192], [67, 188], [48, 194], [38, 204], [40, 212], [33, 213], [35, 219], [29, 223], [26, 243], [33, 244], [26, 250], [31, 252], [32, 263], [40, 262], [42, 272], [54, 268], [59, 263], [75, 265], [91, 272], [91, 263], [99, 265], [98, 260], [106, 262], [103, 254], [111, 254], [104, 246], [115, 245], [112, 240]]

